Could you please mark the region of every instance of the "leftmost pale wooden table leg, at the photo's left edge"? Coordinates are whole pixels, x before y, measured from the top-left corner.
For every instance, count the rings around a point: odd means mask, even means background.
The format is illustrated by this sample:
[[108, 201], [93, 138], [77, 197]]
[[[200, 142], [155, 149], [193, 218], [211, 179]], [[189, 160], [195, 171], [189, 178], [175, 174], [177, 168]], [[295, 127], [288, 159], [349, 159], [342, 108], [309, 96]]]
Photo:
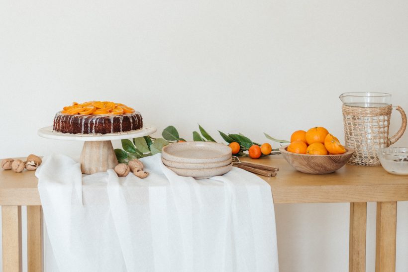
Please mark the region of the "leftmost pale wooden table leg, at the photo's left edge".
[[21, 206], [1, 206], [3, 272], [21, 272]]

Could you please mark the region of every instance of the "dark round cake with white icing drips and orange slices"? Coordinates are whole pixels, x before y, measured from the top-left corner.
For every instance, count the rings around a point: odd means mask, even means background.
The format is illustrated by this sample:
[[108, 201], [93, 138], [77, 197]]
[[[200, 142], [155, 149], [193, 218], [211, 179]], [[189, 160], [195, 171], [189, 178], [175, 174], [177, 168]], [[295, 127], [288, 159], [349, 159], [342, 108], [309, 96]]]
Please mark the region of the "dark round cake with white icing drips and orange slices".
[[57, 112], [54, 131], [72, 134], [107, 134], [143, 127], [142, 115], [124, 104], [108, 101], [74, 102]]

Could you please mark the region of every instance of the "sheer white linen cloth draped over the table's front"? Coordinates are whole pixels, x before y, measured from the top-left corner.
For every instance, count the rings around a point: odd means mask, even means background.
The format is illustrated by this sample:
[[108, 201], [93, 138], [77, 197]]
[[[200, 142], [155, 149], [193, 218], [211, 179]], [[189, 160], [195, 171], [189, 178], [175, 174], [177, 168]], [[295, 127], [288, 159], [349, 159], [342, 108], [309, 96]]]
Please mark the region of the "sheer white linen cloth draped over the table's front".
[[[177, 176], [160, 154], [146, 179], [82, 175], [64, 155], [35, 175], [60, 272], [277, 272], [271, 187], [233, 168], [209, 180]], [[47, 260], [45, 260], [45, 265]]]

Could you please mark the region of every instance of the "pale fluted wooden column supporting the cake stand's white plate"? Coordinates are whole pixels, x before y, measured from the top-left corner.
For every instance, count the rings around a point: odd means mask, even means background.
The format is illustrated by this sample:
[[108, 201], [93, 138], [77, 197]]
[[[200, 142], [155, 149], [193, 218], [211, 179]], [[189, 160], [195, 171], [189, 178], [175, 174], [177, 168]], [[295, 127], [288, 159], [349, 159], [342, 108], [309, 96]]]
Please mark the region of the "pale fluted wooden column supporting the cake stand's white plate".
[[82, 148], [82, 174], [106, 172], [118, 164], [111, 141], [87, 141]]

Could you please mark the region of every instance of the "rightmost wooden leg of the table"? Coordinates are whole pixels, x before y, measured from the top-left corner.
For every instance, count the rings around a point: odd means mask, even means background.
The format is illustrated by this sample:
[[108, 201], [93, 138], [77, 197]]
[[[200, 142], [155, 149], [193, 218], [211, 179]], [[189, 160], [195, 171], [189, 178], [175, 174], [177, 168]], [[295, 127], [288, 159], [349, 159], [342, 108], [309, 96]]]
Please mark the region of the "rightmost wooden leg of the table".
[[397, 202], [377, 202], [376, 272], [395, 271]]

